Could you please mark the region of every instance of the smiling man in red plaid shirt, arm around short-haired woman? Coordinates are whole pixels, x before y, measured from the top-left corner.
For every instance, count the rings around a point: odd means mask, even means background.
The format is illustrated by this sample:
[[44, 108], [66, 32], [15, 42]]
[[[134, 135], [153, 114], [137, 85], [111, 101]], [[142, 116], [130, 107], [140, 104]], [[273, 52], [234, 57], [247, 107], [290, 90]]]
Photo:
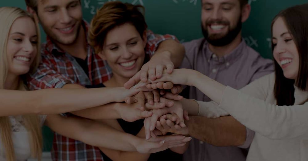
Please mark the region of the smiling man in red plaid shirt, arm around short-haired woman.
[[[112, 73], [107, 62], [96, 55], [87, 42], [88, 24], [82, 19], [80, 0], [26, 0], [26, 4], [27, 10], [39, 19], [47, 34], [47, 42], [43, 44], [41, 52], [42, 61], [36, 73], [28, 80], [31, 90], [85, 88], [111, 78]], [[147, 38], [145, 50], [152, 58], [142, 67], [142, 79], [147, 75], [150, 78], [159, 77], [163, 68], [173, 69], [174, 66], [180, 66], [184, 57], [184, 47], [176, 42], [174, 36], [155, 35], [148, 31]], [[152, 56], [154, 52], [156, 54]], [[118, 108], [119, 103], [111, 103], [72, 113], [90, 119], [102, 119], [103, 115], [106, 115], [105, 112], [112, 112]], [[55, 134], [54, 137], [52, 158], [103, 160], [97, 147], [59, 134]]]

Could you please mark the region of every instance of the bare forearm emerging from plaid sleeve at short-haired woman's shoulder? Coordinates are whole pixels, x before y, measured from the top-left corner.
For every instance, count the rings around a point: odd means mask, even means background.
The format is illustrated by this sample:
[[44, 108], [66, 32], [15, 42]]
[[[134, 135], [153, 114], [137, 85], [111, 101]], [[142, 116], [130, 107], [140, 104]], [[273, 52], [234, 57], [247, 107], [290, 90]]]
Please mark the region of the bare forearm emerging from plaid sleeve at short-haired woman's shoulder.
[[[176, 42], [175, 40], [165, 40], [160, 42], [156, 53], [166, 54], [164, 51], [168, 51], [170, 53], [171, 61], [173, 62], [175, 67], [179, 67], [184, 59], [185, 48], [182, 44]], [[158, 55], [153, 55], [158, 56]]]

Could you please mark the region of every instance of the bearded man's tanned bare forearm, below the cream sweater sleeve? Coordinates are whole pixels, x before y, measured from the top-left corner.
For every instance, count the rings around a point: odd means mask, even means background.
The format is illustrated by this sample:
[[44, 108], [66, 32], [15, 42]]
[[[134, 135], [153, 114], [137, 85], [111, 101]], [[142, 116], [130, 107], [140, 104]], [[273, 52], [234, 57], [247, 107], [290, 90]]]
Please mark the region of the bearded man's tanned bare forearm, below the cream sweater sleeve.
[[232, 116], [209, 119], [190, 116], [185, 121], [189, 134], [214, 146], [240, 146], [246, 140], [246, 128]]

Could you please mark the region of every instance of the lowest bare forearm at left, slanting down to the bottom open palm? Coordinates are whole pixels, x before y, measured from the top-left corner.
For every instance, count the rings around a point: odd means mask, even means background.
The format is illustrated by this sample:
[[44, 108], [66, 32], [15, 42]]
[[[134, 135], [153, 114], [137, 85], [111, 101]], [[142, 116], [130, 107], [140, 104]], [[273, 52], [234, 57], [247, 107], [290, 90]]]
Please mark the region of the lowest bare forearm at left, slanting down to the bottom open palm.
[[83, 118], [64, 118], [59, 115], [49, 115], [47, 116], [46, 125], [61, 135], [83, 143], [121, 151], [136, 151], [133, 142], [139, 139], [98, 121]]

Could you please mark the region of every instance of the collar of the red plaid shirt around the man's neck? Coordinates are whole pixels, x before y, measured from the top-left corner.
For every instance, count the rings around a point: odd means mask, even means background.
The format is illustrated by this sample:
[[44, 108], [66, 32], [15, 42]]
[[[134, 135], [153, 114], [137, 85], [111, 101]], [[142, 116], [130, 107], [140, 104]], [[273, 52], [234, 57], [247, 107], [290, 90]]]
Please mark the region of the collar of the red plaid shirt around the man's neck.
[[[82, 20], [81, 26], [85, 29], [86, 32], [86, 38], [88, 37], [88, 30], [89, 30], [89, 24], [87, 21]], [[86, 40], [87, 41], [87, 40]], [[89, 44], [87, 44], [89, 45]], [[59, 53], [59, 54], [65, 54], [66, 52], [62, 49], [60, 49], [54, 42], [52, 42], [51, 37], [47, 35], [46, 37], [46, 45], [45, 50], [47, 50], [49, 53]]]

